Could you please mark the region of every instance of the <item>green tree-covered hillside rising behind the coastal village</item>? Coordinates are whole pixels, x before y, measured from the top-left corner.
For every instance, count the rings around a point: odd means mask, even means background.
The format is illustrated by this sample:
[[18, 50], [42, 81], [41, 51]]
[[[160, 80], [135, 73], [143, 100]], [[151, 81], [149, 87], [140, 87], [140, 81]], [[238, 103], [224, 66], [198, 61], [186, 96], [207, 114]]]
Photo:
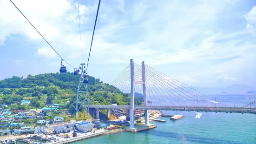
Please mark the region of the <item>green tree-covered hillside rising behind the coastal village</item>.
[[[79, 77], [80, 75], [74, 75], [71, 72], [67, 72], [66, 75], [60, 75], [57, 72], [28, 75], [26, 79], [23, 77], [4, 79], [0, 81], [0, 103], [8, 105], [11, 110], [42, 108], [46, 104], [56, 103], [61, 104], [60, 109], [69, 109], [74, 113]], [[129, 105], [128, 93], [123, 93], [115, 86], [104, 84], [92, 76], [88, 76], [88, 80], [91, 105], [110, 105], [111, 102]], [[31, 103], [21, 105], [21, 100], [30, 100]], [[137, 98], [136, 103], [140, 105]]]

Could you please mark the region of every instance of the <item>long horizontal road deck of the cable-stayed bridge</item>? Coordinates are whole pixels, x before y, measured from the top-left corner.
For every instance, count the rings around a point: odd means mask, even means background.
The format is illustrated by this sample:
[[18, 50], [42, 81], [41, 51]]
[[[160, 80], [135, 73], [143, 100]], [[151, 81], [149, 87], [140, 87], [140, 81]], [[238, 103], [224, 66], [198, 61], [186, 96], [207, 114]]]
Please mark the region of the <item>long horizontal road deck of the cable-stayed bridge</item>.
[[[90, 105], [90, 108], [99, 109], [130, 109], [130, 105]], [[256, 114], [256, 108], [239, 107], [189, 107], [189, 106], [141, 106], [134, 105], [140, 110], [166, 110], [166, 111], [200, 111], [200, 112], [226, 112], [226, 113], [251, 113]]]

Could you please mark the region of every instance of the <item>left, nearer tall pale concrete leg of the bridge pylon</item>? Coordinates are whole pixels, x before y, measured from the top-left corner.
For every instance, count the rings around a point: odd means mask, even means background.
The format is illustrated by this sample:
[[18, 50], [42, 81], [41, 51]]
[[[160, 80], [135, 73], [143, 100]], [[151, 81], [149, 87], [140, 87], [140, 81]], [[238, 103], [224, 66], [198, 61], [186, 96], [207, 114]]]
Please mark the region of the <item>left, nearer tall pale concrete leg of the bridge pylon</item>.
[[130, 128], [134, 128], [134, 63], [131, 59], [131, 107], [130, 107]]

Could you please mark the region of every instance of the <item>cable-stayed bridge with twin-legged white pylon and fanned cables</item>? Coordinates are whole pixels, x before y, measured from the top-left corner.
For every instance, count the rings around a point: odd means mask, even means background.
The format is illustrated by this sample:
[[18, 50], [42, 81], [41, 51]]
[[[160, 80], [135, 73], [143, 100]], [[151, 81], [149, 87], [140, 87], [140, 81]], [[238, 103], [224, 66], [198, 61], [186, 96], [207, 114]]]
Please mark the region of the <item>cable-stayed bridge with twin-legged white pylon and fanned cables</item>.
[[[96, 108], [97, 117], [99, 109], [126, 109], [130, 113], [131, 128], [134, 127], [134, 109], [144, 110], [145, 124], [149, 124], [148, 110], [256, 114], [256, 107], [247, 107], [256, 101], [241, 108], [221, 104], [149, 65], [145, 65], [144, 61], [138, 65], [131, 59], [125, 70], [114, 79], [111, 87], [111, 90], [106, 90], [91, 98], [84, 95], [84, 101], [81, 103], [87, 111], [89, 108]], [[81, 97], [83, 95], [78, 96], [78, 100]]]

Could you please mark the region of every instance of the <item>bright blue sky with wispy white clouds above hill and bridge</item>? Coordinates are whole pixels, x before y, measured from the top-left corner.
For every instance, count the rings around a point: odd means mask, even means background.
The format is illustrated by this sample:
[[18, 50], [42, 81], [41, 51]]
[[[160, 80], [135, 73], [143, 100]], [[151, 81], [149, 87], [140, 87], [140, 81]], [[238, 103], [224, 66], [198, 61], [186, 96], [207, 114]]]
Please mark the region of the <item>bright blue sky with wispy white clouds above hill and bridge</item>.
[[[77, 0], [13, 3], [70, 65], [87, 64], [97, 0], [79, 1], [81, 43]], [[59, 56], [9, 0], [0, 13], [0, 79], [59, 72]], [[256, 87], [256, 1], [101, 0], [87, 73], [111, 83], [130, 59], [187, 85]]]

